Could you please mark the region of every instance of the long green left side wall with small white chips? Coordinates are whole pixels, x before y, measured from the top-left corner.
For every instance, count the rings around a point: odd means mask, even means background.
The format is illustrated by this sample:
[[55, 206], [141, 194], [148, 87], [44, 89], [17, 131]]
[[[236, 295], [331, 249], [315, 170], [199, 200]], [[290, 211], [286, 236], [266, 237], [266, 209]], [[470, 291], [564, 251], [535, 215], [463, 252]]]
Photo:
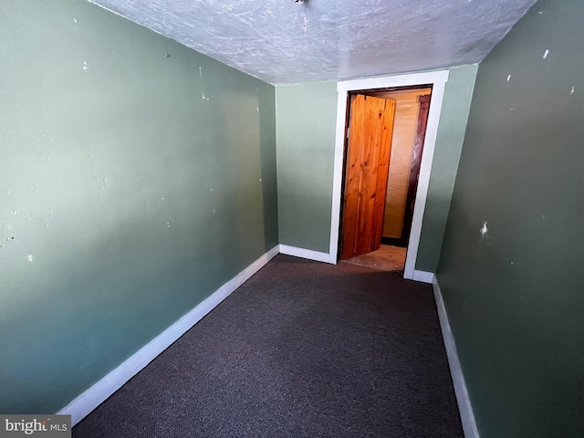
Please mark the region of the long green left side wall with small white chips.
[[275, 89], [82, 1], [0, 23], [0, 412], [57, 412], [277, 244]]

